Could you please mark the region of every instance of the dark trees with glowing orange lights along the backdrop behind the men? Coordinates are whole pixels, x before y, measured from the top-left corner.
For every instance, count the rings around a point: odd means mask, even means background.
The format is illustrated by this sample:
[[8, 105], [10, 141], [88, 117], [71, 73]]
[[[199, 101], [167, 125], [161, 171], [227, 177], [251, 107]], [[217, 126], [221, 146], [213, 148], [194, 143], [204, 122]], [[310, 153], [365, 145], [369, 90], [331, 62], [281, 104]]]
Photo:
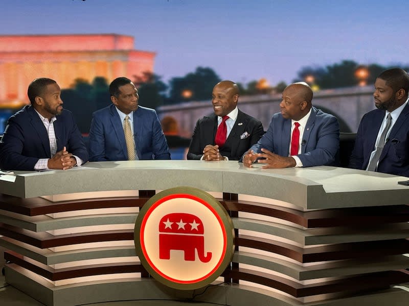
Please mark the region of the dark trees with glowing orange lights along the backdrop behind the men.
[[[394, 65], [409, 70], [409, 66]], [[352, 60], [343, 60], [326, 66], [302, 67], [292, 82], [304, 81], [314, 90], [374, 84], [376, 76], [392, 66], [370, 64], [359, 65]], [[220, 82], [219, 75], [210, 67], [197, 67], [184, 77], [174, 77], [168, 84], [160, 75], [144, 72], [133, 75], [133, 83], [139, 92], [141, 106], [156, 109], [163, 105], [173, 105], [186, 101], [210, 100], [213, 87]], [[232, 80], [234, 81], [234, 80]], [[253, 80], [247, 84], [237, 83], [241, 95], [281, 93], [287, 84], [268, 84], [266, 79]], [[92, 113], [111, 104], [108, 81], [96, 77], [91, 83], [76, 79], [71, 88], [63, 89], [61, 97], [64, 107], [71, 110], [77, 118], [81, 133], [88, 133]]]

